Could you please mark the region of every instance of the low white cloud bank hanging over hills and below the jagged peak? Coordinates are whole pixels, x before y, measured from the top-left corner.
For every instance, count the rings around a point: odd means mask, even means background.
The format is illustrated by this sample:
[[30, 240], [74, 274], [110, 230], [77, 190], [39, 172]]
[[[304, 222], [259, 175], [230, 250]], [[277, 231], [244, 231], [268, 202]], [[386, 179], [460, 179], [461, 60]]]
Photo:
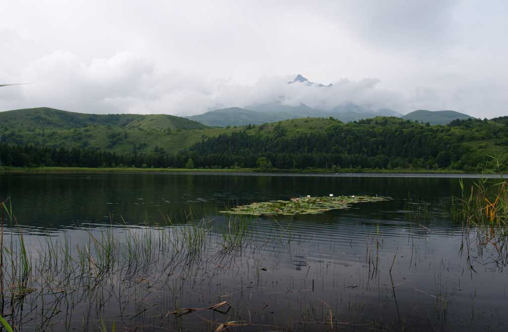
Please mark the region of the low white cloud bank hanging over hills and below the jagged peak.
[[[397, 108], [401, 96], [379, 89], [378, 79], [342, 79], [332, 87], [288, 84], [294, 75], [262, 77], [252, 84], [205, 79], [199, 74], [157, 69], [153, 60], [132, 53], [84, 63], [57, 51], [31, 62], [21, 75], [33, 84], [12, 87], [10, 102], [50, 105], [86, 113], [200, 114], [226, 107], [280, 102], [330, 110], [345, 103]], [[14, 106], [14, 105], [13, 105]]]

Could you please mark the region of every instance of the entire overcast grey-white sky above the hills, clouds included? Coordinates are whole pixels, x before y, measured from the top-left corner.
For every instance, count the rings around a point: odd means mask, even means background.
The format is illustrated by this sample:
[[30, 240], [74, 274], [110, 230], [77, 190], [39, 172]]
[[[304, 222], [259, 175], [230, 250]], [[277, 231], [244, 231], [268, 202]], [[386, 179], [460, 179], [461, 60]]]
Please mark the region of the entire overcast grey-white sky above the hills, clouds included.
[[[508, 115], [506, 1], [0, 2], [0, 111]], [[297, 74], [332, 88], [291, 84]]]

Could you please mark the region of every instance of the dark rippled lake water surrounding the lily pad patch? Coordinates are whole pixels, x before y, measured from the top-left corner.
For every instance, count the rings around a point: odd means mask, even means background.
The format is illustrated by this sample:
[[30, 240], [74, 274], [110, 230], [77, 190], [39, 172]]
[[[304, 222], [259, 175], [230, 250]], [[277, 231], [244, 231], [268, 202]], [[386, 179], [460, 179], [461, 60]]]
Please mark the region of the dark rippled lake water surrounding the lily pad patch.
[[[392, 199], [218, 213], [330, 193]], [[457, 177], [3, 174], [3, 316], [23, 331], [506, 330], [505, 233], [453, 222], [453, 195]]]

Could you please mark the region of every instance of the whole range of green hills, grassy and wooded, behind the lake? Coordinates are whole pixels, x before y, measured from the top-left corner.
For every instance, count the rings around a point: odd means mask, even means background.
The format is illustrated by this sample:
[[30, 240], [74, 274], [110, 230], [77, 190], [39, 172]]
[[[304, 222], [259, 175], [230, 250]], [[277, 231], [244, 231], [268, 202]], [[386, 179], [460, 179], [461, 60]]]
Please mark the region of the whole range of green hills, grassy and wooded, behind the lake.
[[397, 117], [344, 123], [296, 118], [261, 125], [207, 127], [166, 115], [90, 115], [51, 109], [0, 113], [0, 160], [14, 166], [113, 164], [479, 170], [508, 153], [504, 118], [430, 125]]

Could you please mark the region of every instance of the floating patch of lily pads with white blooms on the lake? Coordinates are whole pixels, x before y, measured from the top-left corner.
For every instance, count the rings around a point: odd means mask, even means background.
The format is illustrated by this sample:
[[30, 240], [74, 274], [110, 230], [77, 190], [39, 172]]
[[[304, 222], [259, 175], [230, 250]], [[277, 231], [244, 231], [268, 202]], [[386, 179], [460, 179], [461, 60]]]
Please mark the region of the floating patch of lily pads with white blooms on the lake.
[[251, 216], [261, 215], [295, 215], [295, 214], [319, 214], [330, 210], [348, 209], [351, 204], [380, 202], [390, 200], [390, 197], [382, 196], [334, 196], [329, 194], [323, 197], [297, 197], [289, 201], [270, 201], [261, 203], [252, 203], [248, 205], [237, 206], [220, 213], [244, 214]]

